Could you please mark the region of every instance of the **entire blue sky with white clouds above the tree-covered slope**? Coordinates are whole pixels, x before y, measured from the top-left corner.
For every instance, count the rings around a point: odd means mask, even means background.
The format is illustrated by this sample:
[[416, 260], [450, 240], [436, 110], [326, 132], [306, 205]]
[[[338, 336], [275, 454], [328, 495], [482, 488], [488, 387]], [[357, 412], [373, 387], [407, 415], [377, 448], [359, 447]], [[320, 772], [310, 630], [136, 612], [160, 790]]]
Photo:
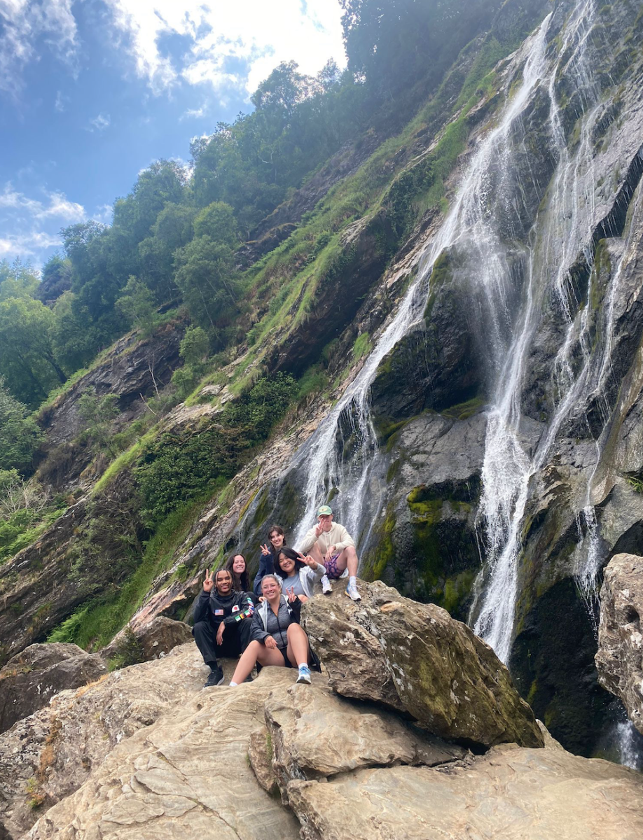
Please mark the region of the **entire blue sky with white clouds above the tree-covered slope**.
[[344, 64], [338, 0], [0, 0], [0, 259], [109, 222], [158, 158], [250, 110], [281, 60]]

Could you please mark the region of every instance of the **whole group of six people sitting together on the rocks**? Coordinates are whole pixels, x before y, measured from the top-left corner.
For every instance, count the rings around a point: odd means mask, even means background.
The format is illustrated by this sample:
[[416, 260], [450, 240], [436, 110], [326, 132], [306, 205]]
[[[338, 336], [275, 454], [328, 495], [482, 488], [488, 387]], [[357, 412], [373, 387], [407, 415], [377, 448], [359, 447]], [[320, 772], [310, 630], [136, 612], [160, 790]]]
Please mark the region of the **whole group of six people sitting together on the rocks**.
[[235, 554], [216, 572], [205, 570], [192, 633], [210, 668], [206, 687], [224, 681], [218, 657], [239, 655], [230, 685], [250, 680], [252, 669], [265, 665], [297, 668], [298, 683], [309, 685], [313, 654], [300, 626], [303, 603], [313, 596], [318, 581], [328, 595], [330, 580], [345, 576], [346, 595], [360, 600], [355, 543], [345, 528], [333, 522], [328, 505], [319, 507], [317, 523], [303, 538], [300, 551], [287, 547], [278, 525], [268, 530], [268, 540], [261, 545], [252, 591], [242, 554]]

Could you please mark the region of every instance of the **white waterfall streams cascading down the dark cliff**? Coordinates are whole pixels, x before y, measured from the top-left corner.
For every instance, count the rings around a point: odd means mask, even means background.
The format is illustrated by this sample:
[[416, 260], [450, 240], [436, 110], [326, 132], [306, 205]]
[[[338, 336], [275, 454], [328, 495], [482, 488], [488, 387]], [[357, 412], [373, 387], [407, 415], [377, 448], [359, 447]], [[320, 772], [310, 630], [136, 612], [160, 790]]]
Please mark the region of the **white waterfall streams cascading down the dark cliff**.
[[[513, 66], [523, 66], [521, 83], [495, 127], [478, 142], [445, 223], [427, 247], [418, 278], [355, 381], [291, 465], [305, 468], [307, 473], [305, 513], [298, 522], [294, 543], [314, 522], [316, 507], [337, 493], [333, 501], [337, 518], [360, 537], [363, 547], [382, 504], [382, 490], [377, 493], [377, 436], [369, 402], [372, 381], [384, 356], [419, 322], [435, 261], [445, 249], [456, 254], [461, 276], [469, 278], [482, 313], [491, 393], [478, 512], [487, 562], [478, 580], [470, 622], [504, 662], [509, 659], [514, 633], [518, 564], [530, 482], [545, 465], [563, 424], [582, 415], [593, 394], [593, 381], [594, 390], [600, 390], [609, 375], [614, 320], [611, 298], [605, 322], [608, 339], [603, 342], [598, 361], [598, 380], [589, 307], [578, 307], [574, 298], [578, 292], [589, 298], [593, 267], [593, 129], [601, 105], [593, 81], [589, 35], [597, 10], [595, 0], [577, 0], [568, 8], [571, 11], [558, 35], [556, 50], [547, 48], [550, 14], [514, 56]], [[558, 102], [557, 86], [563, 76], [578, 102], [578, 137], [574, 144], [569, 142]], [[553, 161], [553, 176], [545, 194], [545, 185], [539, 185], [531, 175], [522, 124], [537, 97], [548, 107], [545, 130]], [[528, 185], [516, 183], [518, 155], [527, 159], [523, 171], [530, 178]], [[526, 200], [523, 202], [525, 186], [538, 195], [539, 201], [542, 199], [535, 218]], [[526, 228], [520, 221], [522, 210], [524, 217], [531, 219]], [[574, 291], [571, 270], [579, 255], [584, 255], [581, 273], [588, 278], [588, 288]], [[617, 282], [618, 271], [609, 295], [614, 295]], [[521, 401], [545, 299], [558, 303], [562, 340], [552, 373], [556, 404], [548, 423], [535, 435], [533, 423], [531, 432], [525, 431], [529, 424], [522, 415]], [[597, 464], [599, 456], [597, 444]], [[593, 475], [581, 514], [589, 543], [578, 580], [586, 592], [592, 589], [603, 560], [591, 504], [592, 481]]]

